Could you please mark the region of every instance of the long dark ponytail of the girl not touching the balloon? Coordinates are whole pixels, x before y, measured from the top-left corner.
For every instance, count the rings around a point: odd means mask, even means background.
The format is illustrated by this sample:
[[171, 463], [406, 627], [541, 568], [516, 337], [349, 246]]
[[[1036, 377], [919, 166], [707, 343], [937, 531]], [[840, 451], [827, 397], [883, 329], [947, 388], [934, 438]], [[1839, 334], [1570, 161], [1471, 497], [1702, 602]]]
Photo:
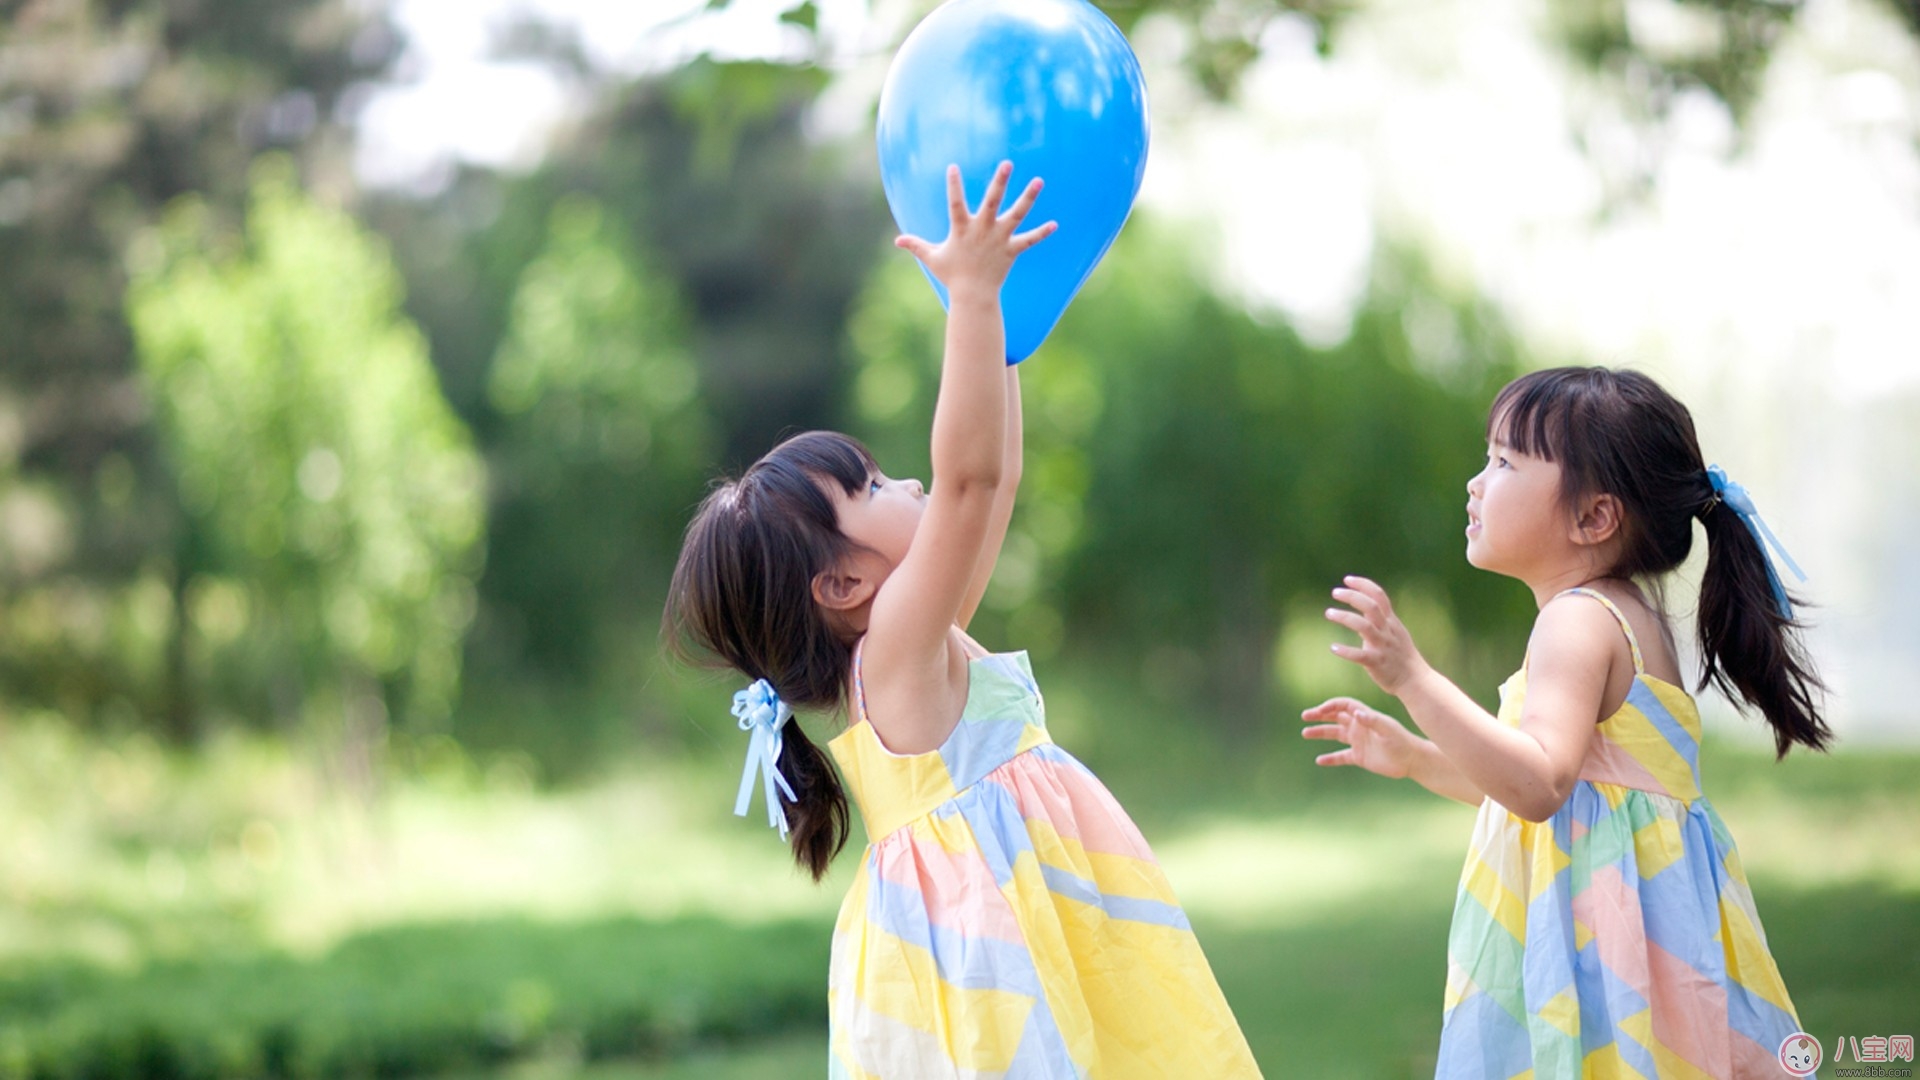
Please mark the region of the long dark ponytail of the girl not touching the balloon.
[[1709, 498], [1707, 573], [1699, 586], [1699, 690], [1718, 686], [1774, 728], [1778, 757], [1797, 742], [1826, 749], [1834, 732], [1820, 717], [1826, 686], [1799, 640], [1801, 625], [1780, 611], [1766, 552], [1734, 507]]

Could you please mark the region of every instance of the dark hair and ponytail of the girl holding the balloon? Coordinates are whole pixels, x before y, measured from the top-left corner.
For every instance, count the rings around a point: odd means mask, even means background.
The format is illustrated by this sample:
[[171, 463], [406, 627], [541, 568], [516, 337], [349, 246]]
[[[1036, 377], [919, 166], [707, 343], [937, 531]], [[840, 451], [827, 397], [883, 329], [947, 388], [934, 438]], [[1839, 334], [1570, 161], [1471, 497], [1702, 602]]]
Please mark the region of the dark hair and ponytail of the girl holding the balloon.
[[[874, 455], [829, 430], [797, 434], [722, 480], [680, 546], [662, 636], [684, 659], [716, 657], [764, 678], [789, 707], [835, 709], [847, 698], [852, 650], [814, 603], [814, 577], [854, 550], [824, 484], [849, 496], [876, 473]], [[780, 773], [793, 857], [814, 880], [847, 844], [847, 792], [801, 724], [783, 728]]]

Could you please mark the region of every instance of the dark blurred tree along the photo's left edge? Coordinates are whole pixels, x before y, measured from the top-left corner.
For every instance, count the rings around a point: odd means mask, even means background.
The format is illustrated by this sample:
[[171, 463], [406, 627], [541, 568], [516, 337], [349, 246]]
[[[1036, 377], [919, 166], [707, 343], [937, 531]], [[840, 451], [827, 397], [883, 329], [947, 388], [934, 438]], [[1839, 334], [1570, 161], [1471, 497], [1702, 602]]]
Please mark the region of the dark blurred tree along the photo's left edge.
[[238, 213], [263, 148], [344, 184], [355, 88], [396, 52], [355, 0], [4, 6], [0, 694], [184, 734], [156, 644], [198, 544], [134, 377], [125, 248], [184, 192]]

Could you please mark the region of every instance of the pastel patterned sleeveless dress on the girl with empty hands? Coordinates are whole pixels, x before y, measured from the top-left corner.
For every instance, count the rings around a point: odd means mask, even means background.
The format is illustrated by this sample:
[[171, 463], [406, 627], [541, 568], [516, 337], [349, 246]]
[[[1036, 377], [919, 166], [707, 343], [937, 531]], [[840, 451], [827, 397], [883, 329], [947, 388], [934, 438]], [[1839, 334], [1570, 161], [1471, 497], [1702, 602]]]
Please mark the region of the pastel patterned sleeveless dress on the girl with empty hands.
[[[1799, 1030], [1726, 824], [1699, 794], [1699, 713], [1645, 673], [1544, 822], [1480, 805], [1448, 936], [1442, 1080], [1782, 1076]], [[1561, 594], [1565, 596], [1565, 594]], [[1523, 667], [1500, 688], [1521, 723]]]

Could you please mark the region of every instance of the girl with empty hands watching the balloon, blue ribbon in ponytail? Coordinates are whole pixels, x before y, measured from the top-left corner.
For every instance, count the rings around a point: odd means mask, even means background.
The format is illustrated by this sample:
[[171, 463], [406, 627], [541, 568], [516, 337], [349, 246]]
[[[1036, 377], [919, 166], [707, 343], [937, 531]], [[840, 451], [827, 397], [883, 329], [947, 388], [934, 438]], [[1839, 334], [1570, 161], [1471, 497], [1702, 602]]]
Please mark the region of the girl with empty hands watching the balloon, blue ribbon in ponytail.
[[1386, 590], [1350, 577], [1332, 592], [1344, 607], [1327, 617], [1359, 634], [1332, 651], [1428, 738], [1336, 698], [1304, 713], [1306, 738], [1346, 744], [1319, 763], [1480, 807], [1448, 938], [1440, 1078], [1780, 1076], [1799, 1020], [1699, 792], [1699, 713], [1644, 590], [1688, 557], [1695, 519], [1709, 552], [1699, 690], [1759, 709], [1782, 755], [1824, 749], [1820, 684], [1764, 525], [1705, 465], [1686, 407], [1632, 371], [1538, 371], [1494, 400], [1486, 467], [1467, 482], [1467, 561], [1540, 603], [1498, 717], [1427, 667]]

